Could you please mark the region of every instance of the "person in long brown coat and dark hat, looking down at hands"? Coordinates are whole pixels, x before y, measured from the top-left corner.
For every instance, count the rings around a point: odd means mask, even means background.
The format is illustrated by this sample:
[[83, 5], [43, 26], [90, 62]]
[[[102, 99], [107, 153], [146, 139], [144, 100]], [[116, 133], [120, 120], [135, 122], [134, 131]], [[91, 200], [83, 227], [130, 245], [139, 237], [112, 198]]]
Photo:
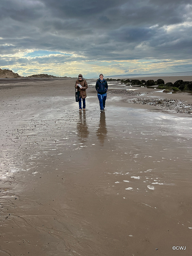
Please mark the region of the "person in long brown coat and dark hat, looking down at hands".
[[82, 104], [83, 102], [83, 110], [85, 110], [85, 98], [87, 96], [86, 94], [86, 89], [88, 88], [86, 80], [83, 78], [82, 74], [78, 75], [78, 79], [75, 82], [75, 88], [78, 89], [80, 92], [80, 97], [79, 97], [79, 111], [82, 110]]

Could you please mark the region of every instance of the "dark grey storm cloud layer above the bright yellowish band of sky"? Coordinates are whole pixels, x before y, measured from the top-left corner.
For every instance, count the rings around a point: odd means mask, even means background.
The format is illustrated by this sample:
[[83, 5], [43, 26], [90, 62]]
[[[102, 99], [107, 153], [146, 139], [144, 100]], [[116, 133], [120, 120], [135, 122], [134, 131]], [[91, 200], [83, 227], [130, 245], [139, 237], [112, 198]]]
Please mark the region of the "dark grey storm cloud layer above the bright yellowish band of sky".
[[[190, 4], [190, 0], [1, 1], [0, 54], [34, 49], [72, 52], [86, 60], [188, 58]], [[190, 25], [177, 29], [183, 22]], [[175, 27], [167, 30], [171, 25]]]

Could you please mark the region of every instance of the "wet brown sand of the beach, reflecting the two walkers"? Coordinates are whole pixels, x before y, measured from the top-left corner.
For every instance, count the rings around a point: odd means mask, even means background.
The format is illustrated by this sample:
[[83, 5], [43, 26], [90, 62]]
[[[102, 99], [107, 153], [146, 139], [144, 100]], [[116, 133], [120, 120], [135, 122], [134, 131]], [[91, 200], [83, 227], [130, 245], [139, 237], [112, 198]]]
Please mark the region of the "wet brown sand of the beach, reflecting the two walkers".
[[94, 85], [79, 112], [73, 79], [1, 84], [0, 256], [191, 254], [192, 115], [116, 88], [100, 113]]

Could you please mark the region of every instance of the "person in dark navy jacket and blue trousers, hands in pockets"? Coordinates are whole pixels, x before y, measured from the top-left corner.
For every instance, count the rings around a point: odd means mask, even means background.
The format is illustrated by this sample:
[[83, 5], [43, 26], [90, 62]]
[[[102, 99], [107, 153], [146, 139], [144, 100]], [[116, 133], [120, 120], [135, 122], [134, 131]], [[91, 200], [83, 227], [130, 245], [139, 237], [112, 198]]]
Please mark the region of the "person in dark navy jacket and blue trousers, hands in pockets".
[[107, 81], [103, 78], [103, 74], [99, 75], [99, 79], [96, 82], [95, 88], [97, 90], [100, 110], [101, 112], [103, 112], [105, 108], [105, 101], [107, 98], [107, 90], [108, 90], [108, 84], [107, 84]]

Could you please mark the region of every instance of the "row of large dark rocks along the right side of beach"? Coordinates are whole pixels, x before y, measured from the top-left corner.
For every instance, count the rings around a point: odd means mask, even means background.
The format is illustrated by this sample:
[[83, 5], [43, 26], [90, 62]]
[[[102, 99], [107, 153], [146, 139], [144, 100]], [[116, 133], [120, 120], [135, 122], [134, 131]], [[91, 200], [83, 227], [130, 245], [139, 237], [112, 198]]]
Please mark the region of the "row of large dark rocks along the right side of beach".
[[126, 85], [133, 85], [133, 86], [144, 86], [144, 87], [150, 87], [150, 86], [158, 86], [158, 88], [163, 87], [175, 87], [178, 88], [178, 90], [181, 91], [192, 91], [192, 81], [183, 81], [183, 80], [177, 80], [176, 82], [168, 82], [165, 84], [163, 79], [158, 79], [156, 81], [154, 80], [138, 80], [138, 79], [113, 79], [113, 78], [107, 78], [107, 81], [120, 81], [121, 84]]

